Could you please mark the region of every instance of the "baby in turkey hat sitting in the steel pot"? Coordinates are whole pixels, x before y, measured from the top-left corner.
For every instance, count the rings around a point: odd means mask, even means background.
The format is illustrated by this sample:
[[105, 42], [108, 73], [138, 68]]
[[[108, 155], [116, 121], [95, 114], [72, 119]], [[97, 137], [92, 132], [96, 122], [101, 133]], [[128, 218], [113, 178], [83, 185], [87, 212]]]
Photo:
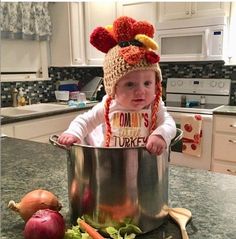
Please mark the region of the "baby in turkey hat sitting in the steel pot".
[[103, 64], [106, 95], [77, 116], [58, 142], [100, 147], [146, 146], [156, 155], [169, 147], [176, 126], [162, 101], [158, 46], [150, 23], [130, 17], [98, 27], [90, 42], [106, 53]]

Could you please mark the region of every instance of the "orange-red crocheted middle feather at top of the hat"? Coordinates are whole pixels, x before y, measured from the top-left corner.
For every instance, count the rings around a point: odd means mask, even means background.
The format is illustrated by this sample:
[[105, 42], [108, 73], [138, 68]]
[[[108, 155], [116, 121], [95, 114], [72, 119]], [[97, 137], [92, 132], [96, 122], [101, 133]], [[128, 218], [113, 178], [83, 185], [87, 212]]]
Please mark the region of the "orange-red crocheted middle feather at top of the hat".
[[113, 23], [114, 36], [117, 42], [130, 41], [134, 38], [133, 24], [136, 21], [131, 17], [119, 17]]

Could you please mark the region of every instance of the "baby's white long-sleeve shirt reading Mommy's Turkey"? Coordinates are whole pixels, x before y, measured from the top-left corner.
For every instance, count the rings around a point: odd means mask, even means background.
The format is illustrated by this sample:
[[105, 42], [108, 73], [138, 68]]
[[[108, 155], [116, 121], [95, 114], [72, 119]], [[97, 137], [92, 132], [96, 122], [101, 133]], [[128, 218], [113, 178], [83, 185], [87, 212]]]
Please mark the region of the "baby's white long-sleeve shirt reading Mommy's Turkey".
[[[104, 104], [95, 105], [91, 110], [78, 115], [70, 124], [65, 133], [72, 134], [90, 145], [103, 147], [105, 144], [105, 116]], [[112, 100], [109, 110], [112, 136], [110, 146], [135, 147], [143, 146], [150, 135], [151, 105], [140, 111], [127, 111], [124, 107]], [[151, 135], [161, 135], [169, 147], [171, 139], [176, 135], [176, 126], [161, 100], [157, 112], [157, 128]]]

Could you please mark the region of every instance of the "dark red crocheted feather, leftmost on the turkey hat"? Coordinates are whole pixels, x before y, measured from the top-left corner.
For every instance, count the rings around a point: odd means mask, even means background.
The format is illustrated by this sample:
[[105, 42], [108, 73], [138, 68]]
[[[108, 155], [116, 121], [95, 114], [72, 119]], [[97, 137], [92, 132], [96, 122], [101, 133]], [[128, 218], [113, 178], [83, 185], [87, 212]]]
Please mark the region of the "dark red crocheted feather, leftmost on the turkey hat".
[[97, 27], [90, 35], [90, 43], [99, 51], [107, 53], [117, 45], [116, 40], [104, 27]]

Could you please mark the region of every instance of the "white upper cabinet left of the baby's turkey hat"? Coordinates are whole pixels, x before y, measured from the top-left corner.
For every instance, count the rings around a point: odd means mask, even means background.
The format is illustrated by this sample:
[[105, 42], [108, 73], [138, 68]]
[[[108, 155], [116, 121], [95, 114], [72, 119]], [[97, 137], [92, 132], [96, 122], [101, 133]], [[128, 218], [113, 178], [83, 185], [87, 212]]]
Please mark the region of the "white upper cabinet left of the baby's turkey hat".
[[90, 34], [98, 26], [113, 23], [116, 2], [57, 2], [49, 10], [53, 24], [51, 65], [101, 66], [104, 54], [90, 44]]

